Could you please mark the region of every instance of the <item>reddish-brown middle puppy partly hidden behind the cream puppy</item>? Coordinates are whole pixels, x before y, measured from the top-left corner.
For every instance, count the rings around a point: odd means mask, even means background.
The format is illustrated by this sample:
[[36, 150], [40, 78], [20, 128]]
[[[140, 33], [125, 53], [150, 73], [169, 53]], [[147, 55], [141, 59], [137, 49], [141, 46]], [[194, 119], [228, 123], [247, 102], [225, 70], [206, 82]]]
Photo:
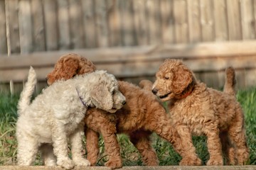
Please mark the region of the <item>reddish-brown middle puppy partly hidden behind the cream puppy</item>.
[[[73, 55], [66, 55], [61, 57], [60, 61], [81, 61], [79, 57], [79, 55], [75, 57]], [[70, 79], [75, 74], [85, 73], [70, 68], [75, 67], [80, 70], [82, 64], [79, 62], [72, 62], [79, 63], [75, 65], [60, 61], [55, 64], [53, 72], [48, 74], [48, 84], [58, 79]], [[83, 65], [82, 67], [90, 66]], [[58, 68], [63, 68], [64, 70], [58, 70]], [[69, 70], [68, 74], [61, 74], [61, 72], [66, 72], [65, 69]], [[191, 148], [186, 149], [187, 142], [181, 140], [178, 136], [176, 129], [169, 123], [164, 107], [151, 91], [140, 89], [138, 86], [125, 81], [118, 81], [118, 83], [119, 91], [121, 91], [127, 101], [124, 107], [114, 114], [91, 108], [85, 116], [85, 125], [87, 126], [85, 130], [87, 159], [92, 165], [95, 165], [97, 162], [99, 132], [102, 134], [105, 141], [105, 149], [109, 155], [109, 161], [106, 163], [106, 166], [110, 166], [112, 169], [122, 166], [116, 133], [126, 133], [129, 135], [131, 142], [137, 147], [139, 153], [142, 154], [142, 159], [146, 166], [156, 166], [159, 164], [156, 152], [151, 147], [149, 141], [149, 136], [152, 132], [156, 132], [157, 135], [171, 142], [174, 149], [183, 157], [180, 164], [201, 164], [201, 160], [198, 159], [195, 150]]]

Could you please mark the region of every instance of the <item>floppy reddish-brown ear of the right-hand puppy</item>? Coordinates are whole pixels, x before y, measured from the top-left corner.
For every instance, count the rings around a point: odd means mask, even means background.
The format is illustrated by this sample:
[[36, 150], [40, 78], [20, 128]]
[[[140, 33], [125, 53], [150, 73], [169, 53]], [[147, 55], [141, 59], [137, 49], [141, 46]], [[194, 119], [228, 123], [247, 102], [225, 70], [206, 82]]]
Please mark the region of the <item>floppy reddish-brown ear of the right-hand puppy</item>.
[[175, 94], [181, 94], [186, 87], [193, 81], [193, 74], [191, 71], [183, 66], [178, 66], [177, 70], [174, 71], [174, 79], [172, 89]]

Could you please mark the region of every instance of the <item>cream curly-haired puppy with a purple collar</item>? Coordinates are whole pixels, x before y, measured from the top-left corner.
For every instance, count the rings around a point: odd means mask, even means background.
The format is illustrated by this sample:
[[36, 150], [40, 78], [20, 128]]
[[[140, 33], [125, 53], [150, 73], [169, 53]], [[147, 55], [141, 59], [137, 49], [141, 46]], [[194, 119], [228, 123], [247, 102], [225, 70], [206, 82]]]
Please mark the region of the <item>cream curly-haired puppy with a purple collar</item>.
[[[18, 101], [18, 165], [31, 165], [41, 150], [48, 166], [90, 166], [81, 152], [83, 119], [89, 107], [114, 113], [124, 105], [117, 80], [105, 71], [80, 75], [56, 82], [30, 103], [35, 85], [36, 72], [31, 67]], [[68, 157], [68, 142], [73, 160]]]

